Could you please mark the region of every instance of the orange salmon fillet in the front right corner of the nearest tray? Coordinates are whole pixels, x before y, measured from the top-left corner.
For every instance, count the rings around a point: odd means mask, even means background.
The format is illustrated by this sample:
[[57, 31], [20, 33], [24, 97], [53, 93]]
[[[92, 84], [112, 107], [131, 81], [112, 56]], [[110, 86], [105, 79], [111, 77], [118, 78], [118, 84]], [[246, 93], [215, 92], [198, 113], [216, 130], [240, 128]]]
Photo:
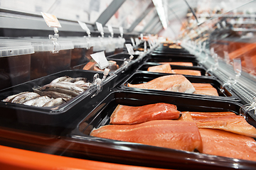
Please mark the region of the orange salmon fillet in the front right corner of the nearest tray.
[[252, 137], [223, 130], [201, 129], [203, 154], [256, 161], [256, 142]]

